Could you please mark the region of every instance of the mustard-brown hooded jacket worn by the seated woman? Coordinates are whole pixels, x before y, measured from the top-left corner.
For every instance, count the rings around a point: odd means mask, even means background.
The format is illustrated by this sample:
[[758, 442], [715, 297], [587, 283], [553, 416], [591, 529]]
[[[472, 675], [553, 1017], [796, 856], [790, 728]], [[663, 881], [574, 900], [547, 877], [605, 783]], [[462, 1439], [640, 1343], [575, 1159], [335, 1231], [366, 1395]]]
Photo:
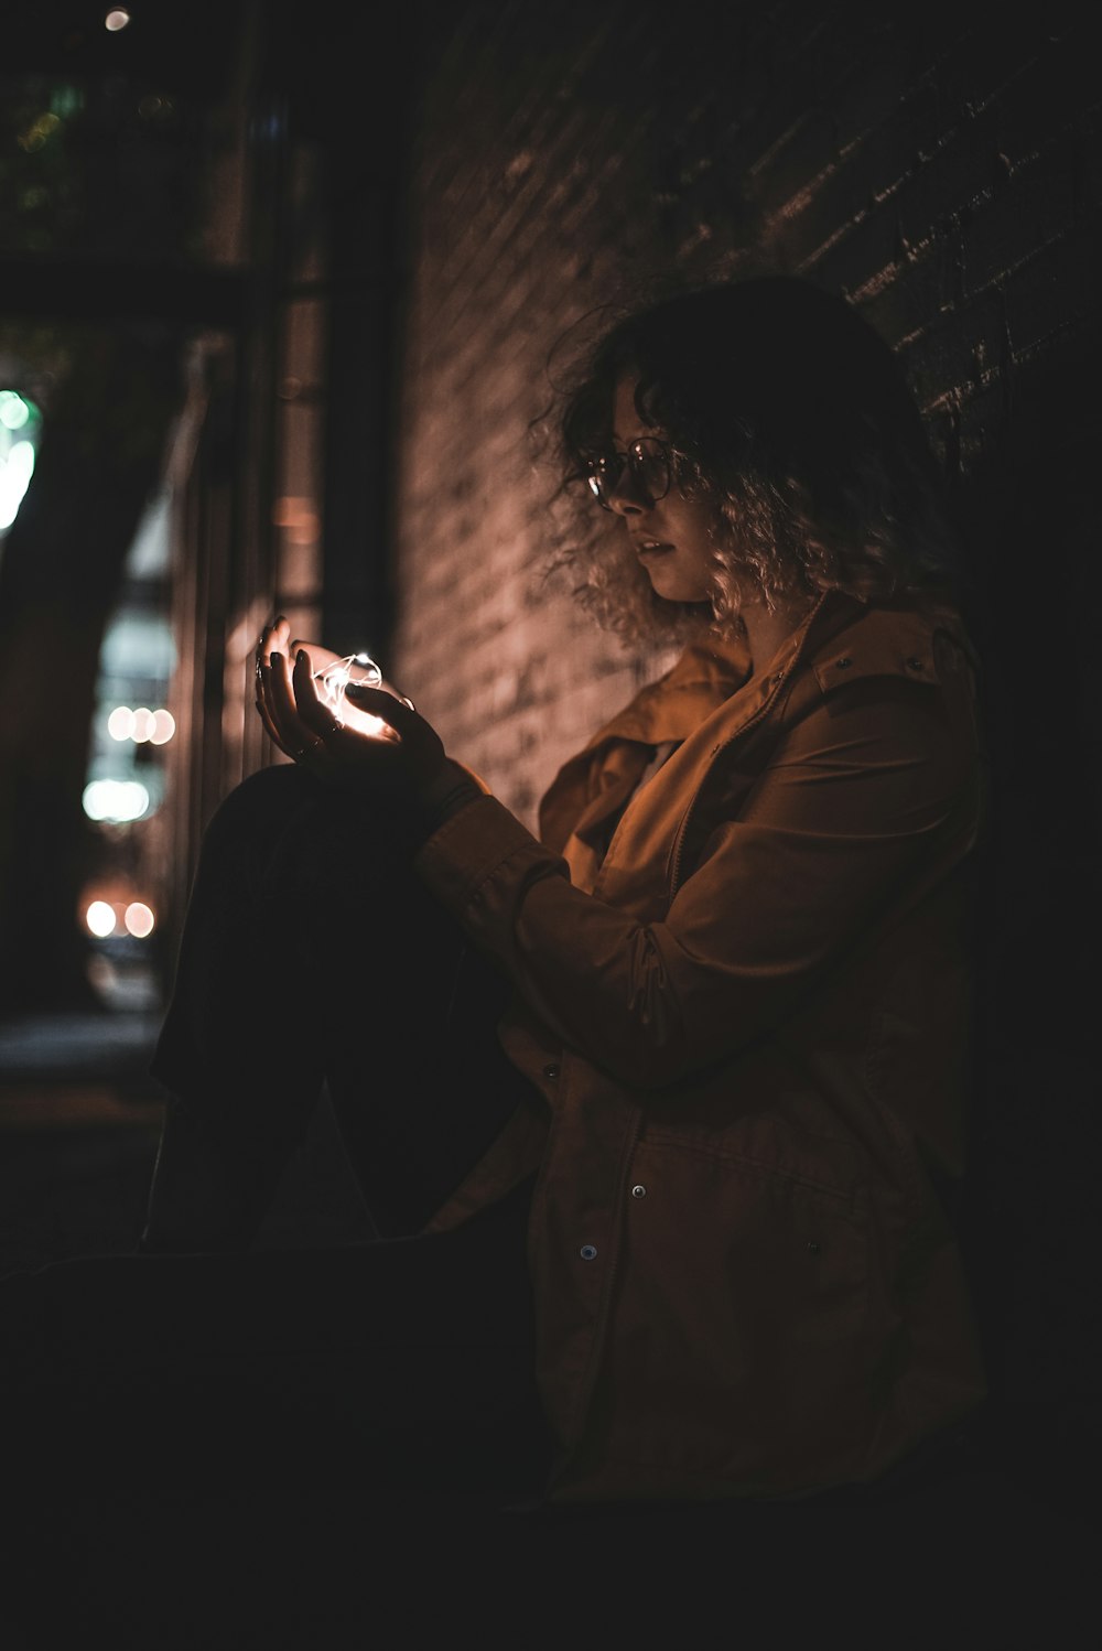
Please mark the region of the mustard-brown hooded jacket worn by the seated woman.
[[967, 639], [828, 596], [746, 670], [690, 649], [566, 763], [543, 840], [487, 796], [417, 862], [516, 987], [533, 1103], [432, 1225], [539, 1164], [559, 1499], [863, 1481], [983, 1395], [935, 1194], [963, 1152]]

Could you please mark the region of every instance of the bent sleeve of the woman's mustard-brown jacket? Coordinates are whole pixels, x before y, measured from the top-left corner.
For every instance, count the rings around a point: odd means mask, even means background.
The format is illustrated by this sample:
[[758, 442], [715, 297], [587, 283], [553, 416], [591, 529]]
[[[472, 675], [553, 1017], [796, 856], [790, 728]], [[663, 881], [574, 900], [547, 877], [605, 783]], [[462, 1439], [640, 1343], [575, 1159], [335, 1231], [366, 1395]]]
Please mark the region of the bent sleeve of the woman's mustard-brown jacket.
[[818, 700], [779, 740], [737, 809], [716, 812], [662, 921], [574, 888], [493, 797], [416, 863], [564, 1045], [660, 1088], [782, 1022], [973, 835], [970, 730], [935, 690], [883, 680]]

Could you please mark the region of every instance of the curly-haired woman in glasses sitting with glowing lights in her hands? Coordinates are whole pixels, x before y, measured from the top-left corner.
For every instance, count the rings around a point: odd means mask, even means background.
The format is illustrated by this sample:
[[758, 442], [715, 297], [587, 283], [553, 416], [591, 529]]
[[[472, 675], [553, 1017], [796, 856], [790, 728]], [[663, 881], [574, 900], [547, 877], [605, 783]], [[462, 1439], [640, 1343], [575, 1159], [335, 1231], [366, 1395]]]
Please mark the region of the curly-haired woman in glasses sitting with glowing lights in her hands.
[[383, 1242], [234, 1263], [252, 1346], [492, 1347], [513, 1422], [533, 1357], [553, 1502], [868, 1483], [983, 1393], [947, 1212], [980, 758], [937, 471], [891, 352], [790, 279], [625, 317], [558, 428], [559, 500], [609, 530], [564, 551], [582, 599], [678, 662], [536, 837], [409, 702], [350, 684], [371, 736], [264, 631], [294, 768], [205, 844], [144, 1248], [224, 1280], [327, 1081]]

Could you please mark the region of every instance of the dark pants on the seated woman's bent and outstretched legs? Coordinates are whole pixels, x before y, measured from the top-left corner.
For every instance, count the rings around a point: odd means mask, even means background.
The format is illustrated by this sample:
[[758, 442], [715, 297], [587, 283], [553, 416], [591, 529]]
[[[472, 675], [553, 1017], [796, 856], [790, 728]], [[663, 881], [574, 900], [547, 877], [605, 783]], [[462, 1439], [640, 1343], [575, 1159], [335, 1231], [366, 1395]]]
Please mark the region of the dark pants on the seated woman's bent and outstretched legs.
[[[417, 1237], [523, 1091], [503, 1001], [363, 804], [289, 768], [239, 786], [205, 839], [153, 1063], [239, 1242], [0, 1281], [15, 1459], [40, 1481], [125, 1463], [168, 1496], [330, 1473], [370, 1494], [538, 1489], [531, 1189]], [[249, 1250], [323, 1083], [381, 1237]]]

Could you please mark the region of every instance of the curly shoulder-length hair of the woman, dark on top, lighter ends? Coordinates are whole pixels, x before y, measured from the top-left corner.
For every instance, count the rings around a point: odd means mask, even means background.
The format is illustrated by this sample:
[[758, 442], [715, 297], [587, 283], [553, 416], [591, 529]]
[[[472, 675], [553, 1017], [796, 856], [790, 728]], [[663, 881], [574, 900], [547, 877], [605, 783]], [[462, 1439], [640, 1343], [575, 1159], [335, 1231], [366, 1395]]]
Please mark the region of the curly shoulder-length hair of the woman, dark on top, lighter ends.
[[[675, 482], [711, 505], [714, 596], [657, 596], [587, 461], [612, 446], [617, 383], [675, 452]], [[767, 606], [952, 586], [944, 482], [892, 350], [843, 299], [794, 276], [698, 287], [620, 315], [543, 414], [558, 472], [551, 570], [625, 642], [737, 621], [747, 575]]]

